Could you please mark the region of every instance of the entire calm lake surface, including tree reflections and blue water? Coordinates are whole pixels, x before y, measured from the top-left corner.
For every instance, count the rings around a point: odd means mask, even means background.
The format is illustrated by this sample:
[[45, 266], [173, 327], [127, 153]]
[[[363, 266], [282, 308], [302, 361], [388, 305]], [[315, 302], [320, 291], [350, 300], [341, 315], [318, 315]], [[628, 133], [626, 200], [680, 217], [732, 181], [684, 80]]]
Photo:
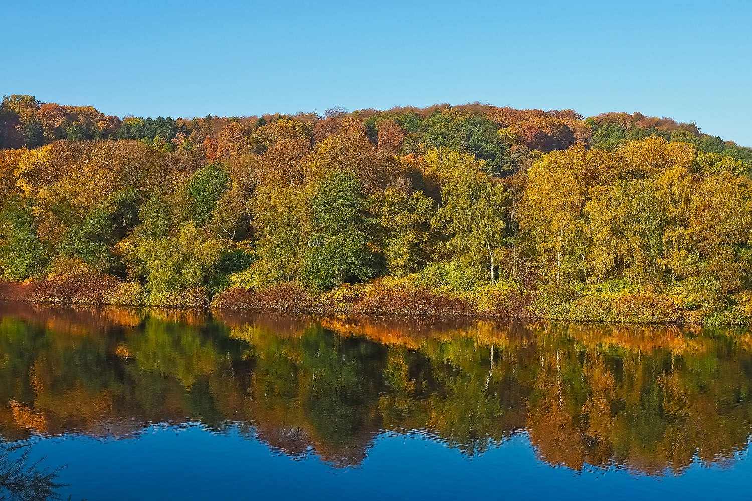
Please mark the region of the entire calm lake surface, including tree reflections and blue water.
[[73, 499], [752, 496], [747, 330], [0, 318], [0, 436]]

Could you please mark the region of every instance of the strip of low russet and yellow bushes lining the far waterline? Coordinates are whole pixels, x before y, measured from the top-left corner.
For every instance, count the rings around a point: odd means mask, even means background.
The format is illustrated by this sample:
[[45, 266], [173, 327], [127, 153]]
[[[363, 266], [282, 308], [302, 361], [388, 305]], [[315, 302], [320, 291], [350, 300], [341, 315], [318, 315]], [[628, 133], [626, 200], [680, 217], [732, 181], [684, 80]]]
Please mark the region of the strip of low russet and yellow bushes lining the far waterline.
[[371, 315], [550, 318], [675, 324], [750, 324], [752, 302], [708, 311], [690, 309], [681, 294], [659, 294], [609, 284], [598, 290], [539, 288], [526, 290], [487, 285], [474, 291], [431, 290], [417, 275], [384, 277], [362, 284], [342, 284], [314, 293], [299, 282], [283, 282], [256, 291], [229, 287], [210, 297], [206, 288], [149, 294], [136, 282], [84, 274], [25, 282], [0, 282], [0, 300], [89, 306], [159, 306], [196, 309], [268, 309], [285, 312]]

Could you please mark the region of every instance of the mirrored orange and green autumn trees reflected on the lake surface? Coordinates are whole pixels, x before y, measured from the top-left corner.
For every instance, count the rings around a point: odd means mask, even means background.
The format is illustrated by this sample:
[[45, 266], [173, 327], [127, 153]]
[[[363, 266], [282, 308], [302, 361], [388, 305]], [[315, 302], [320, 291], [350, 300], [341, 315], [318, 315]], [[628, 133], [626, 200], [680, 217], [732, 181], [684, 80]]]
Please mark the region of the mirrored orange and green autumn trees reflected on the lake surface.
[[750, 334], [13, 305], [0, 429], [127, 436], [228, 421], [280, 451], [359, 463], [382, 429], [466, 454], [527, 430], [541, 458], [681, 471], [747, 447]]

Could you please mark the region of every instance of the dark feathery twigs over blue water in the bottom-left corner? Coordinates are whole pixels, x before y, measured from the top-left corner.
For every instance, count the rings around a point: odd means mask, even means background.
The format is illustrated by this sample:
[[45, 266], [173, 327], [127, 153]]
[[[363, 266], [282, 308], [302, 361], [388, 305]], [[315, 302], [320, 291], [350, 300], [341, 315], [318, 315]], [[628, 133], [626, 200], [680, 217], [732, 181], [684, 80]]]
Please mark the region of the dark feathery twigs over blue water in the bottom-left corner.
[[29, 445], [0, 442], [0, 499], [44, 501], [61, 499], [58, 472], [32, 462]]

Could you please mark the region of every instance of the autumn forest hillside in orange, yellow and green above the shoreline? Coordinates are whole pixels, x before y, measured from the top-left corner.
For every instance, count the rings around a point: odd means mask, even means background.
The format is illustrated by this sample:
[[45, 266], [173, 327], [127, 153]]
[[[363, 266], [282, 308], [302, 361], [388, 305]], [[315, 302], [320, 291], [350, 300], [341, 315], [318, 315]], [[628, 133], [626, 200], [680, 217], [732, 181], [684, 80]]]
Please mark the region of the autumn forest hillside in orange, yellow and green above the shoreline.
[[0, 297], [748, 324], [752, 149], [487, 104], [0, 107]]

